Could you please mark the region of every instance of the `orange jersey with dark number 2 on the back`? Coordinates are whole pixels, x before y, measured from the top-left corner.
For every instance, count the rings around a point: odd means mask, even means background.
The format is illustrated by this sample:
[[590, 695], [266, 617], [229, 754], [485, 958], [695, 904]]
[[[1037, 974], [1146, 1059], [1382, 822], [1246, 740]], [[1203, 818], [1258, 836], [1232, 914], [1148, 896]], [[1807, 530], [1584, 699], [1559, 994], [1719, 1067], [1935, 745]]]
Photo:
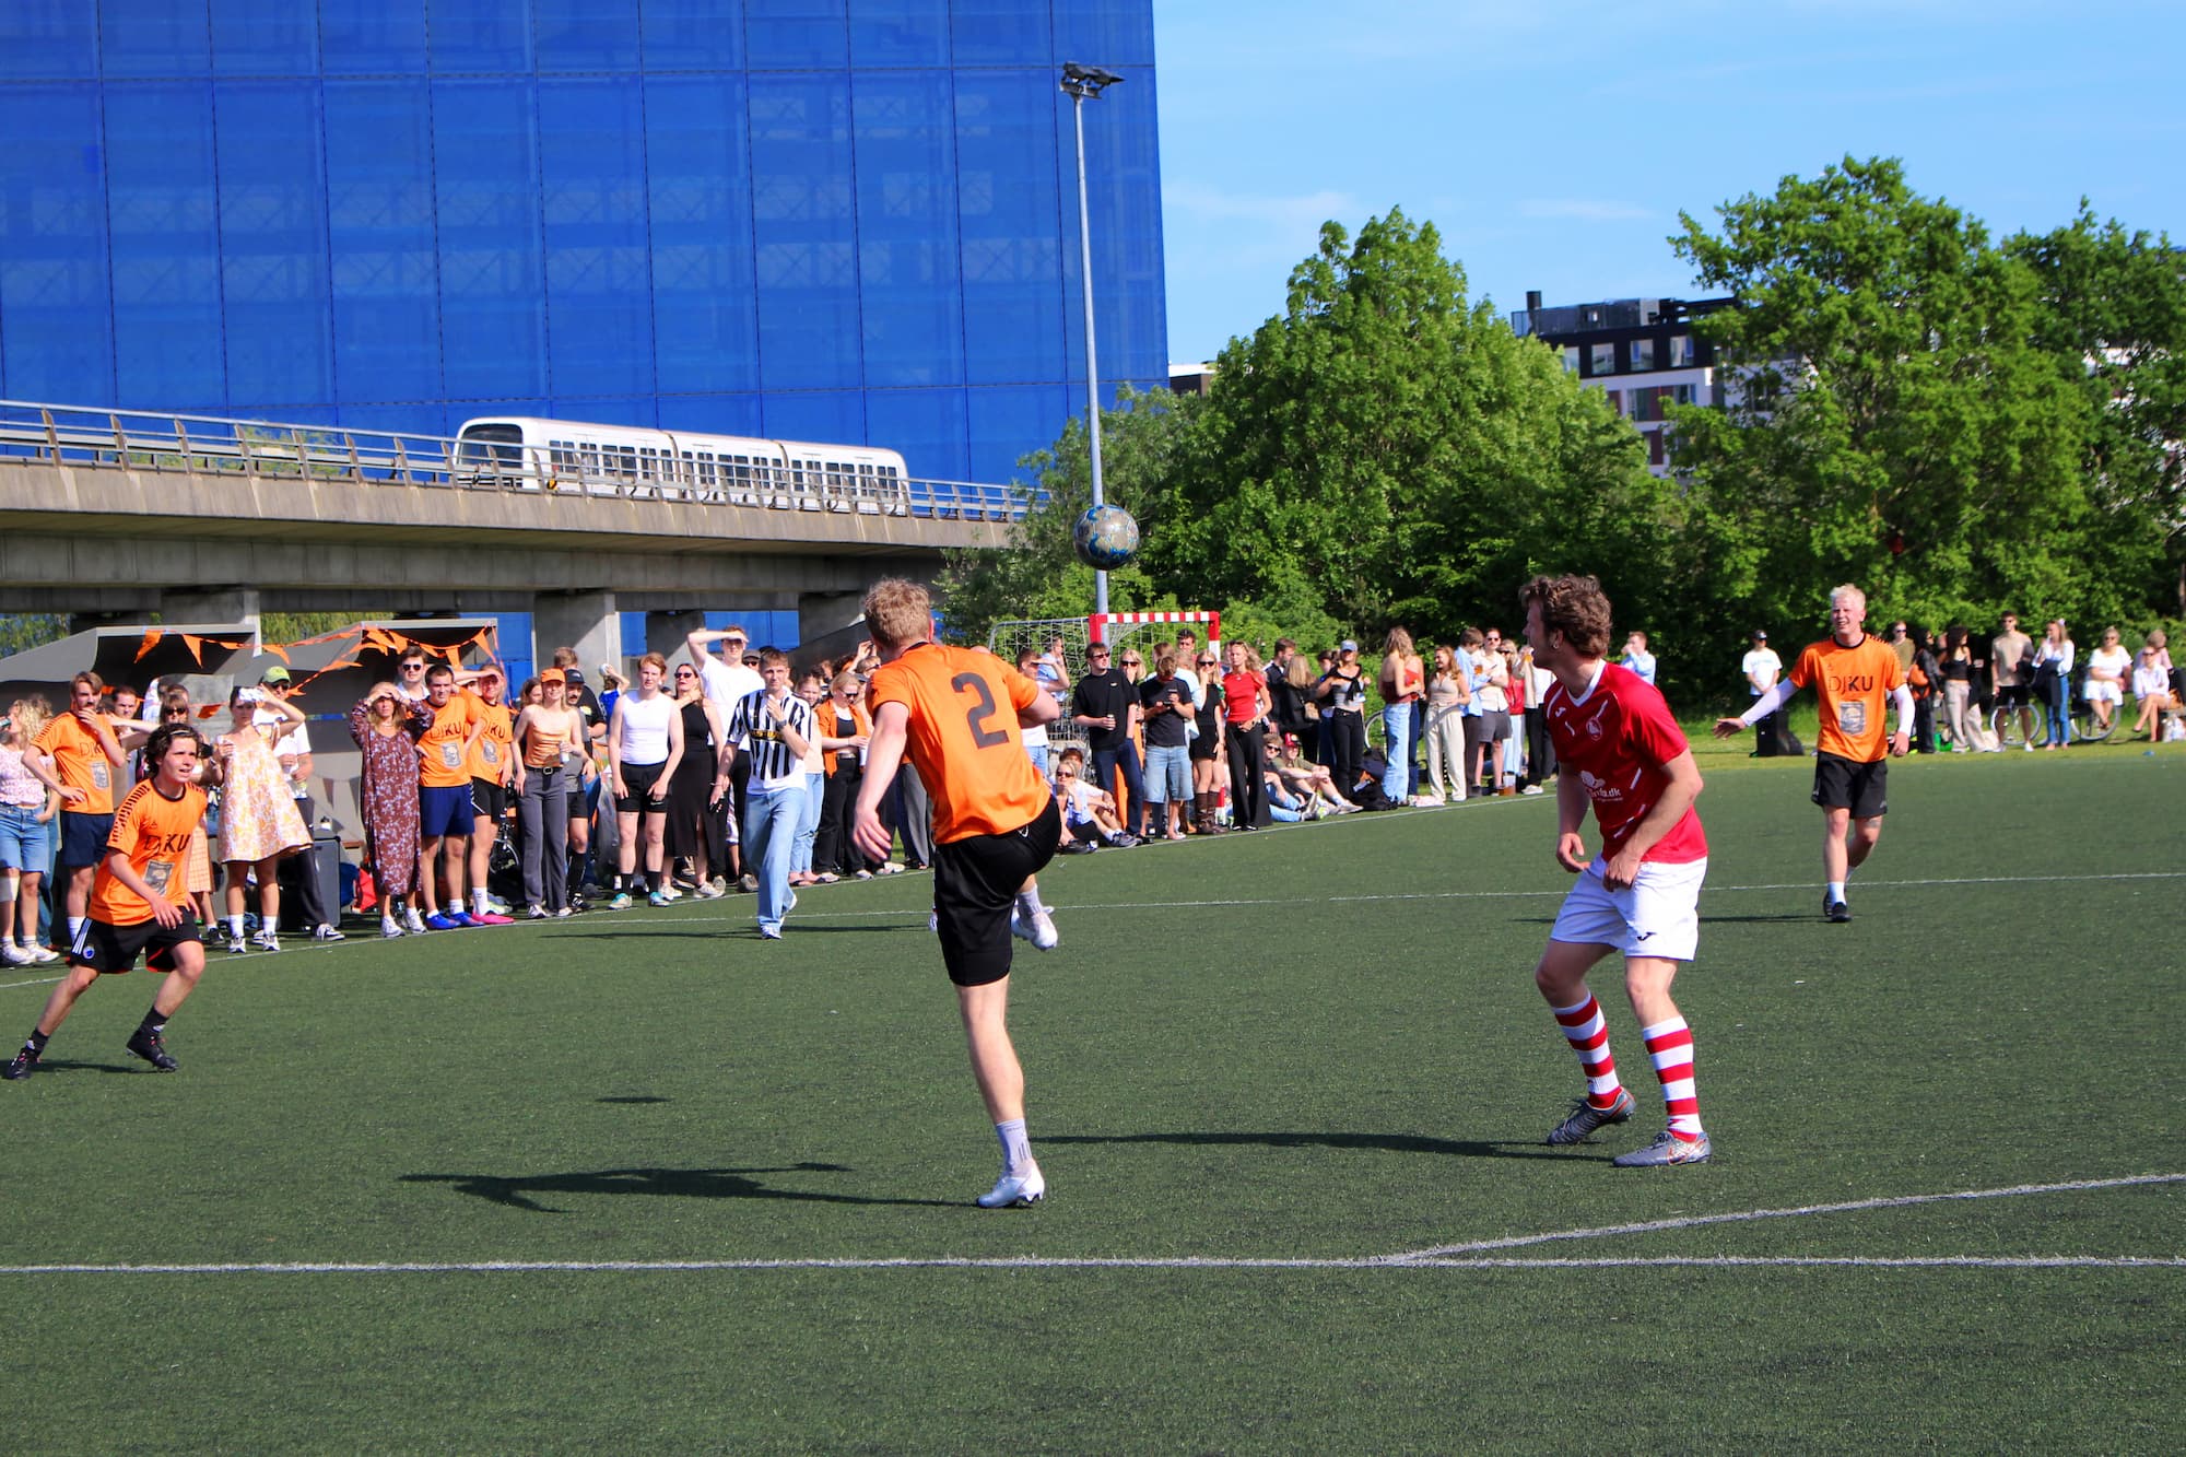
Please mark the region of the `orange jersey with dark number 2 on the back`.
[[933, 801], [933, 838], [1023, 829], [1047, 807], [1016, 713], [1041, 687], [990, 652], [920, 643], [872, 674], [872, 715], [901, 702], [912, 711], [905, 753]]

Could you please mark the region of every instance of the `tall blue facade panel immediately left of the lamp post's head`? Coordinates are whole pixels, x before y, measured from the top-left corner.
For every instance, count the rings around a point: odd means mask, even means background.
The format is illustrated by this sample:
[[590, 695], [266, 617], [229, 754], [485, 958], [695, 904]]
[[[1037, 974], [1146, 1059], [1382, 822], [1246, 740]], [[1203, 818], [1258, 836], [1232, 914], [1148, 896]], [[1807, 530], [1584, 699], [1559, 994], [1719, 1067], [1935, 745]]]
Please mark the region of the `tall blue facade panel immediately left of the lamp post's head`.
[[955, 77], [964, 374], [975, 385], [1069, 378], [1065, 313], [1080, 304], [1062, 291], [1062, 254], [1076, 284], [1078, 173], [1071, 162], [1067, 230], [1058, 234], [1056, 149], [1069, 149], [1071, 133], [1056, 129], [1051, 92], [1060, 94], [1051, 70]]

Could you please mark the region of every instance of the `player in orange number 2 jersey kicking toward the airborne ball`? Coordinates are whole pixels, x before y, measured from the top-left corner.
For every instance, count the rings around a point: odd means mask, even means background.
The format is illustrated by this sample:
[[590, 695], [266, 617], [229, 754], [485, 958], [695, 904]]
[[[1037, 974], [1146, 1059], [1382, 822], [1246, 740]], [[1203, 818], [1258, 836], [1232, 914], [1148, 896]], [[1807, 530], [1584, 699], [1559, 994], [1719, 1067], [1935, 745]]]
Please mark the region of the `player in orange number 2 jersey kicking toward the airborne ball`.
[[881, 801], [907, 755], [933, 799], [942, 963], [957, 989], [971, 1072], [1001, 1140], [1001, 1179], [977, 1203], [1036, 1203], [1047, 1179], [1025, 1138], [1025, 1072], [1010, 1044], [1010, 919], [1014, 904], [1021, 921], [1047, 921], [1034, 875], [1062, 840], [1062, 816], [1019, 726], [1047, 724], [1060, 707], [995, 654], [929, 641], [933, 606], [916, 582], [877, 582], [866, 593], [866, 626], [881, 667], [868, 687], [872, 739], [853, 836], [868, 855], [888, 855]]

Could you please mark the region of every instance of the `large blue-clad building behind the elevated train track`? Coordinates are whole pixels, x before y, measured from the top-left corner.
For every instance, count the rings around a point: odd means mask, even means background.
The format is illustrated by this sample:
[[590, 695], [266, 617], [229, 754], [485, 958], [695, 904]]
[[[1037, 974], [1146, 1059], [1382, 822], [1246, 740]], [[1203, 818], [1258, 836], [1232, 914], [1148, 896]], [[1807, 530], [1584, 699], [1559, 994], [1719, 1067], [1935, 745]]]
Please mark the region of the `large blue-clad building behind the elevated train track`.
[[[0, 396], [1008, 479], [1167, 378], [1152, 0], [11, 0]], [[1104, 387], [1106, 394], [1106, 387]]]

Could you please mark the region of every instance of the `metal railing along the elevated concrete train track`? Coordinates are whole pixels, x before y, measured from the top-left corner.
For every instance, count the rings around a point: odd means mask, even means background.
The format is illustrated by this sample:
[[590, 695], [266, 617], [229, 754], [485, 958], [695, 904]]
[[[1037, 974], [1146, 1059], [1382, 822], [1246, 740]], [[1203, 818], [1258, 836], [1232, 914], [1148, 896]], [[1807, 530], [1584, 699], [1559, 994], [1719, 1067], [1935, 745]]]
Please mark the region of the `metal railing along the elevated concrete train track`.
[[[1032, 494], [975, 481], [877, 479], [807, 470], [761, 483], [568, 473], [536, 457], [470, 464], [448, 435], [280, 424], [87, 405], [0, 400], [0, 462], [118, 466], [354, 486], [433, 486], [505, 494], [575, 494], [732, 510], [848, 512], [936, 521], [1021, 521]], [[522, 453], [533, 455], [533, 453]]]

